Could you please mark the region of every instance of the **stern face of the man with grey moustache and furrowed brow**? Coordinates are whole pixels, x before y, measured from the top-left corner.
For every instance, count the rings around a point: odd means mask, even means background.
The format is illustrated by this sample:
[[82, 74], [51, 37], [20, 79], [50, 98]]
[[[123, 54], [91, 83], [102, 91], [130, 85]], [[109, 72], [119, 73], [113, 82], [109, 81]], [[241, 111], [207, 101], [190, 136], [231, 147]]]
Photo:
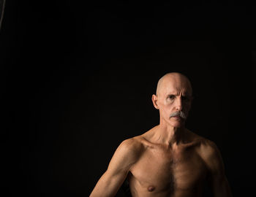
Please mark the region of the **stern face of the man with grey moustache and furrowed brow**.
[[188, 83], [169, 80], [162, 85], [153, 100], [157, 104], [155, 107], [159, 109], [160, 124], [167, 123], [176, 128], [184, 126], [192, 101], [192, 90]]

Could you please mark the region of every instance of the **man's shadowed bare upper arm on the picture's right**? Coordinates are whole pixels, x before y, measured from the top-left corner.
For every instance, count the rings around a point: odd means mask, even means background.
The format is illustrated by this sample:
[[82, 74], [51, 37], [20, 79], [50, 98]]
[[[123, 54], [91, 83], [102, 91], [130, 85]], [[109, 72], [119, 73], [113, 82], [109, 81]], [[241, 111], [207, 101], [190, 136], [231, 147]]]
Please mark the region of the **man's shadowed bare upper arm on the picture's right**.
[[230, 187], [225, 176], [225, 166], [222, 161], [221, 153], [214, 142], [208, 142], [203, 148], [203, 160], [208, 168], [208, 179], [214, 196], [230, 197]]

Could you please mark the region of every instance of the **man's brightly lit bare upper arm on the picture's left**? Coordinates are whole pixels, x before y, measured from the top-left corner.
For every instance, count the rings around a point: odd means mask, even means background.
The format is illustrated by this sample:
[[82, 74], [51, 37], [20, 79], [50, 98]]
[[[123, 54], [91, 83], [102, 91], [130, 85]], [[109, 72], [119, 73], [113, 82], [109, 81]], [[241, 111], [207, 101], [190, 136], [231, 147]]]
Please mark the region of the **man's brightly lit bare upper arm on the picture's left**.
[[138, 144], [134, 139], [124, 140], [116, 149], [107, 171], [97, 182], [90, 197], [115, 196], [126, 179], [129, 169], [137, 161], [138, 153]]

